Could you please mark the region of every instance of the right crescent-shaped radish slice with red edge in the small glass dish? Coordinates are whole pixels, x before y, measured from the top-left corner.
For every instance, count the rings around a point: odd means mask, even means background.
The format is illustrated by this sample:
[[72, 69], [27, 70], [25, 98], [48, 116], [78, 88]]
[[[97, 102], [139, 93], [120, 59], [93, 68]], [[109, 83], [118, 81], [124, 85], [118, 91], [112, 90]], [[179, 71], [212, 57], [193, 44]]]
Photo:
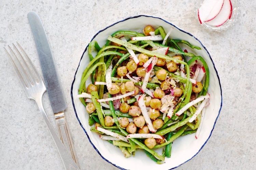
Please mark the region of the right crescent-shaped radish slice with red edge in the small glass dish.
[[205, 22], [208, 25], [219, 27], [222, 26], [232, 14], [232, 4], [230, 0], [224, 0], [221, 12], [211, 21]]

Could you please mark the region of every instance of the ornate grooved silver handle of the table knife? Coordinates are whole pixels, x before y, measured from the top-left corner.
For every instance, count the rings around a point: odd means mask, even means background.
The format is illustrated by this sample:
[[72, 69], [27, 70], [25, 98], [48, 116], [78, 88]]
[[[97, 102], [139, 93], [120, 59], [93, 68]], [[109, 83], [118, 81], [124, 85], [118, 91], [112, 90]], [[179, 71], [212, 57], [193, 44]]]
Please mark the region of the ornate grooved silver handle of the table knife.
[[78, 163], [78, 160], [76, 158], [77, 156], [76, 156], [73, 141], [72, 141], [72, 138], [71, 138], [71, 135], [70, 135], [69, 127], [68, 127], [68, 124], [66, 122], [65, 113], [64, 112], [59, 112], [59, 113], [54, 114], [54, 116], [55, 116], [55, 120], [56, 120], [56, 123], [57, 123], [57, 126], [58, 126], [58, 132], [59, 132], [60, 140], [62, 141], [64, 146], [67, 148], [69, 153], [71, 154], [71, 156], [74, 159], [77, 166], [80, 167], [79, 163]]

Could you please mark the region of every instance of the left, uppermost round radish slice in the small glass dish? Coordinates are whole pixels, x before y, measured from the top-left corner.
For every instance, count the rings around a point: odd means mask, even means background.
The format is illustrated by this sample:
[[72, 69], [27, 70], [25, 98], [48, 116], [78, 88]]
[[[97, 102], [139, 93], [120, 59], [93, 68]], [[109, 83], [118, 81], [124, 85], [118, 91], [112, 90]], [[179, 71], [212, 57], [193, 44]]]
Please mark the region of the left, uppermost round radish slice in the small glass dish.
[[200, 23], [215, 18], [223, 7], [224, 0], [204, 0], [198, 9]]

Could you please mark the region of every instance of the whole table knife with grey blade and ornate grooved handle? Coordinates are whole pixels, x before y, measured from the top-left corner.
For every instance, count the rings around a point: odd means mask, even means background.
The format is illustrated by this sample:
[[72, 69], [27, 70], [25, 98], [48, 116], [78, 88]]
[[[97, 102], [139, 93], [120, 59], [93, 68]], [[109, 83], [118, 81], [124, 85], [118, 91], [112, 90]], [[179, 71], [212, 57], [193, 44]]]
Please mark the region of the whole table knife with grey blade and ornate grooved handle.
[[48, 43], [48, 38], [44, 30], [43, 23], [35, 12], [28, 13], [28, 20], [34, 36], [35, 45], [37, 46], [37, 52], [43, 72], [46, 91], [49, 96], [49, 100], [58, 126], [59, 137], [67, 150], [70, 152], [74, 162], [79, 167], [64, 113], [67, 105], [61, 85], [59, 83], [54, 64], [54, 58]]

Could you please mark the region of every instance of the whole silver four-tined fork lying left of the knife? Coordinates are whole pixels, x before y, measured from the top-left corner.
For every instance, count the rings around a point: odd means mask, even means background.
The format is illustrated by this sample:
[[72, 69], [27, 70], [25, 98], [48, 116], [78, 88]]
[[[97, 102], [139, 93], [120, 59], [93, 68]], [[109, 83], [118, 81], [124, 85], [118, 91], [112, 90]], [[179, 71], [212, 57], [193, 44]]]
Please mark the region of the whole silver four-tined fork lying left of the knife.
[[[11, 63], [14, 67], [14, 70], [16, 74], [18, 75], [19, 81], [21, 82], [26, 95], [29, 99], [33, 99], [38, 107], [40, 112], [43, 115], [43, 118], [45, 120], [45, 123], [53, 137], [53, 140], [55, 142], [55, 145], [58, 149], [58, 152], [60, 154], [61, 160], [65, 166], [66, 170], [76, 170], [80, 169], [72, 159], [71, 155], [65, 148], [65, 146], [62, 144], [61, 140], [59, 139], [58, 135], [56, 134], [52, 124], [50, 123], [48, 116], [46, 115], [42, 103], [42, 97], [44, 92], [46, 91], [44, 82], [42, 78], [40, 77], [38, 71], [33, 66], [31, 60], [29, 59], [26, 52], [23, 50], [23, 48], [19, 45], [18, 42], [16, 42], [20, 51], [17, 49], [17, 47], [13, 45], [13, 48], [16, 51], [16, 54], [12, 50], [12, 48], [8, 45], [8, 48], [10, 50], [10, 53], [4, 48], [6, 53], [8, 54], [8, 57], [11, 60]], [[18, 57], [17, 57], [18, 56]], [[19, 58], [19, 60], [18, 60]]]

